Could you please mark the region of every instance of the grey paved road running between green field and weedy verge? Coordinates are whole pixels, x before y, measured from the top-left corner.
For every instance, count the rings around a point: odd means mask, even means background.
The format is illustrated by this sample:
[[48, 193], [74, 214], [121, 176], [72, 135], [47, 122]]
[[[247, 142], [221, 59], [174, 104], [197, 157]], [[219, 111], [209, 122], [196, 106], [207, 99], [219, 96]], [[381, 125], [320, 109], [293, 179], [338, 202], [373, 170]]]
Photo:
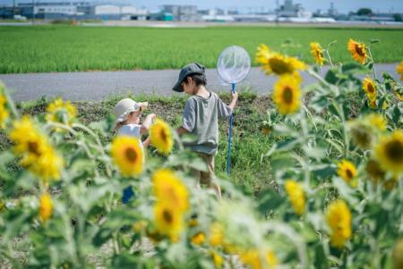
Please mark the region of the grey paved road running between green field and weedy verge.
[[[396, 65], [377, 64], [376, 68], [389, 72], [399, 79]], [[327, 71], [323, 68], [322, 73]], [[97, 101], [114, 94], [154, 93], [162, 96], [173, 94], [178, 70], [159, 71], [90, 71], [90, 72], [58, 72], [58, 73], [29, 73], [29, 74], [0, 74], [0, 80], [12, 92], [16, 101], [28, 101], [40, 97], [63, 97], [73, 101]], [[313, 79], [303, 73], [304, 84]], [[207, 70], [208, 88], [213, 91], [228, 91], [229, 85], [219, 80], [217, 71]], [[264, 95], [270, 92], [276, 78], [267, 77], [260, 68], [254, 67], [246, 80], [237, 88], [252, 88], [254, 92]]]

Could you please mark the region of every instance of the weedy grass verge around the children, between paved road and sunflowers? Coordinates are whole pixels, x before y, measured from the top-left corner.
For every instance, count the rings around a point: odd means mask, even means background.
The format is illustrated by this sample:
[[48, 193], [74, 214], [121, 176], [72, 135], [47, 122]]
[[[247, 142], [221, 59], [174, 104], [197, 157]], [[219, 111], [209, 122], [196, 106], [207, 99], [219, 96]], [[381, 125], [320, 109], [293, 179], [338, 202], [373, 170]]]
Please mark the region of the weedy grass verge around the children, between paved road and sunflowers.
[[[158, 96], [130, 96], [136, 101], [148, 101], [148, 112], [157, 113], [177, 128], [181, 124], [181, 116], [186, 97], [158, 97]], [[221, 95], [222, 99], [229, 103], [229, 95]], [[122, 97], [110, 97], [98, 103], [78, 102], [74, 103], [79, 112], [79, 119], [88, 125], [90, 122], [105, 120], [112, 113], [114, 105]], [[22, 113], [31, 115], [45, 113], [47, 104], [51, 100], [30, 101], [18, 104]], [[249, 193], [258, 194], [263, 189], [270, 188], [274, 182], [270, 177], [269, 160], [266, 158], [261, 164], [261, 156], [271, 147], [273, 138], [263, 134], [262, 122], [266, 120], [266, 111], [270, 107], [269, 97], [256, 96], [253, 93], [243, 92], [238, 101], [234, 113], [233, 147], [231, 155], [230, 178], [236, 185], [244, 188]], [[226, 177], [227, 171], [227, 130], [228, 122], [219, 122], [219, 152], [216, 156], [216, 174]], [[109, 142], [111, 137], [104, 138], [104, 143]], [[0, 152], [10, 147], [10, 142], [4, 133], [0, 131]], [[153, 148], [150, 147], [150, 150]]]

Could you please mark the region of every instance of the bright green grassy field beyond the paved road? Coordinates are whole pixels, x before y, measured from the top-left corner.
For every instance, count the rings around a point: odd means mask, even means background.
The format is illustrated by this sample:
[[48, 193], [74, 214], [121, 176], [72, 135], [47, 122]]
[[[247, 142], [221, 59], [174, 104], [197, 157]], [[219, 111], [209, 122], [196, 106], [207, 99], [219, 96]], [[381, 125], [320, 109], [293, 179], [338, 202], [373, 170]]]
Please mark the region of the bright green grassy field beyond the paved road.
[[226, 46], [244, 46], [253, 56], [261, 43], [312, 63], [309, 43], [327, 46], [334, 40], [338, 42], [330, 54], [341, 62], [351, 59], [348, 38], [366, 43], [380, 39], [372, 46], [375, 62], [396, 63], [403, 58], [403, 29], [4, 26], [0, 27], [0, 73], [171, 69], [194, 61], [214, 67]]

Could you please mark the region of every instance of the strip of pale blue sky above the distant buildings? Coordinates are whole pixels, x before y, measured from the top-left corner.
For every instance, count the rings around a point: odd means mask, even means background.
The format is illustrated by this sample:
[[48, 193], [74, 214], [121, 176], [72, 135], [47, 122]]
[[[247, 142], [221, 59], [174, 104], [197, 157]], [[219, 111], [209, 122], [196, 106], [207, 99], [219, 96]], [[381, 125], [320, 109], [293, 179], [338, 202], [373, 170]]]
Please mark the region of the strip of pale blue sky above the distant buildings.
[[[27, 0], [16, 0], [17, 2], [27, 2]], [[54, 2], [63, 0], [35, 0], [36, 2]], [[70, 0], [65, 0], [70, 2]], [[78, 1], [78, 0], [73, 0]], [[86, 1], [86, 0], [81, 0]], [[207, 9], [219, 7], [223, 9], [238, 9], [243, 12], [248, 11], [264, 11], [274, 10], [276, 0], [87, 0], [90, 2], [108, 2], [110, 4], [133, 4], [136, 6], [147, 7], [150, 10], [158, 10], [162, 4], [195, 4], [199, 9]], [[283, 4], [284, 0], [278, 0], [279, 4]], [[315, 12], [318, 9], [326, 11], [330, 7], [330, 2], [333, 2], [339, 13], [348, 13], [356, 11], [360, 7], [369, 7], [373, 12], [392, 12], [403, 13], [403, 0], [294, 0], [294, 3], [303, 4], [308, 11]], [[13, 0], [0, 0], [1, 4], [12, 4]]]

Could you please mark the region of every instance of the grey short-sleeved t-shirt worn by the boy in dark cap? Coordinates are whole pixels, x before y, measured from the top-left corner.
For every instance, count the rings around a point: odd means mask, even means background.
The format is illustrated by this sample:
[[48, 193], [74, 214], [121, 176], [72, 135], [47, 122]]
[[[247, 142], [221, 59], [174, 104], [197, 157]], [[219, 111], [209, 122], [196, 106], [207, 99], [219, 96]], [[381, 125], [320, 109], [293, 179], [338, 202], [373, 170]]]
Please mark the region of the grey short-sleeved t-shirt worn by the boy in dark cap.
[[232, 109], [213, 92], [209, 98], [190, 97], [184, 105], [182, 127], [196, 139], [184, 146], [196, 152], [215, 155], [219, 145], [219, 119], [225, 119], [231, 113]]

